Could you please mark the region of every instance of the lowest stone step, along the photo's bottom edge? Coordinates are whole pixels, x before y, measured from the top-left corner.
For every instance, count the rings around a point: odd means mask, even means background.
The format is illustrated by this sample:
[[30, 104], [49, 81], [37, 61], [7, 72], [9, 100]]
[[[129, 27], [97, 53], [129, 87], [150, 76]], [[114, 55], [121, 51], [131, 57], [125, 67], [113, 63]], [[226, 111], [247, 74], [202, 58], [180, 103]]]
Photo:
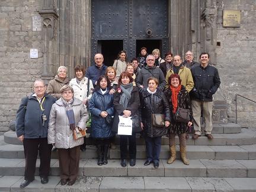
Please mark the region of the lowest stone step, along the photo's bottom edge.
[[[0, 191], [20, 191], [22, 176], [0, 178]], [[169, 192], [255, 192], [256, 178], [211, 178], [211, 177], [78, 177], [72, 186], [60, 185], [60, 178], [49, 177], [49, 183], [41, 184], [40, 178], [22, 191], [169, 191]]]

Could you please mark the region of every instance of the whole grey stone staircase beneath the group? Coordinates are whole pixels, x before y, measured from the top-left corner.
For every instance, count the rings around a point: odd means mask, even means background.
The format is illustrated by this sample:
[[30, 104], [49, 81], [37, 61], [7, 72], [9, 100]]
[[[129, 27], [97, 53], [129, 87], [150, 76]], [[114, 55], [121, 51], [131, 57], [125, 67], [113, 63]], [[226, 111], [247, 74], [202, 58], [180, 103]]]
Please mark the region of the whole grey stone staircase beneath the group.
[[[221, 134], [220, 134], [221, 133]], [[213, 140], [201, 136], [187, 140], [190, 165], [178, 159], [171, 165], [168, 137], [162, 137], [159, 168], [144, 166], [145, 143], [137, 135], [135, 167], [121, 167], [119, 146], [110, 149], [107, 165], [97, 165], [97, 152], [91, 139], [87, 151], [81, 152], [79, 179], [75, 185], [59, 184], [57, 152], [52, 152], [49, 184], [40, 184], [36, 177], [23, 191], [256, 191], [256, 129], [241, 129], [237, 124], [215, 124]], [[119, 137], [116, 138], [119, 143]], [[19, 191], [24, 175], [23, 145], [15, 132], [0, 136], [0, 191]], [[36, 175], [39, 175], [39, 160]]]

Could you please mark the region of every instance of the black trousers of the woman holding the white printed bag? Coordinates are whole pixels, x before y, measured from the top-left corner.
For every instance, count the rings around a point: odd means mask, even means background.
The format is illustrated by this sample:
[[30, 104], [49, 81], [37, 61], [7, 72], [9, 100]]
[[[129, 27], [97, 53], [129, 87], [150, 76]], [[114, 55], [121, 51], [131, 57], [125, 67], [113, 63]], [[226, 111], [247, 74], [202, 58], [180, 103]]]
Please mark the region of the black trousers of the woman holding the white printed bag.
[[129, 140], [129, 157], [130, 159], [136, 159], [136, 133], [132, 133], [132, 135], [120, 135], [121, 159], [127, 159], [128, 140]]

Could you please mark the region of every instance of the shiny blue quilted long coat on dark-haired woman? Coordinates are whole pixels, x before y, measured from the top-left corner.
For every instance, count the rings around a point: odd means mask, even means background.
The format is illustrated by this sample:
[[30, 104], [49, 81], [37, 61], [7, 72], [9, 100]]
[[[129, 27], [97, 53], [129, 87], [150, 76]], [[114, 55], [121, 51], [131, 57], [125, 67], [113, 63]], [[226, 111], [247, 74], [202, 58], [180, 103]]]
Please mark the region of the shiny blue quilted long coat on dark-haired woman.
[[95, 91], [89, 100], [89, 111], [91, 112], [91, 137], [109, 138], [113, 136], [111, 124], [107, 124], [105, 118], [101, 117], [101, 111], [106, 111], [110, 116], [114, 114], [113, 94], [100, 90]]

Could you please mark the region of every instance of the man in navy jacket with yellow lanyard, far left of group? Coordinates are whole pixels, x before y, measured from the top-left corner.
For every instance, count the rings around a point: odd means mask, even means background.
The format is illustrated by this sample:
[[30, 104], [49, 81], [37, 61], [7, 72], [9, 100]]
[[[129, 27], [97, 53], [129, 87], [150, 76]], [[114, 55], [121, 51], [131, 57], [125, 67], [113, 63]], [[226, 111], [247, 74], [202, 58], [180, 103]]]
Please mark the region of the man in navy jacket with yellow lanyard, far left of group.
[[46, 95], [44, 81], [34, 82], [34, 94], [21, 100], [16, 115], [16, 133], [23, 142], [25, 154], [25, 179], [20, 188], [26, 187], [34, 180], [37, 151], [40, 156], [39, 175], [41, 183], [48, 183], [50, 171], [50, 155], [52, 145], [47, 143], [47, 132], [50, 110], [56, 98]]

